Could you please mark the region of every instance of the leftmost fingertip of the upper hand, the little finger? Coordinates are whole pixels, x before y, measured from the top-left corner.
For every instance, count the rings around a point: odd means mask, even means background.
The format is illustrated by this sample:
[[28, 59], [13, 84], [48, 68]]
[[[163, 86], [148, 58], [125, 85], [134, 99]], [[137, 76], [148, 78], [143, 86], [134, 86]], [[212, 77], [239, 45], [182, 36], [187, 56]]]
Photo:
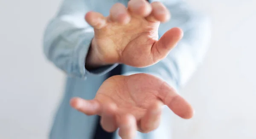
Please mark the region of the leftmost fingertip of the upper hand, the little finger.
[[102, 29], [107, 25], [106, 18], [98, 12], [87, 12], [87, 14], [85, 14], [85, 20], [93, 26], [94, 29]]

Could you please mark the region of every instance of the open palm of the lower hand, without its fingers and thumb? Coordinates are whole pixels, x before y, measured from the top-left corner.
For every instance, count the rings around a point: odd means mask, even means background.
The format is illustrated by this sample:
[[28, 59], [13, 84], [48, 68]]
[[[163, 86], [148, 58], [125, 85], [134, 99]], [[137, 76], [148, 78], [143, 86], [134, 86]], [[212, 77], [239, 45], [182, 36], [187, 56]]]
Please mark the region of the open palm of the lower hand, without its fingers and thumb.
[[146, 74], [113, 76], [102, 84], [95, 99], [103, 104], [115, 103], [119, 113], [131, 113], [139, 120], [161, 98], [161, 84], [162, 81]]

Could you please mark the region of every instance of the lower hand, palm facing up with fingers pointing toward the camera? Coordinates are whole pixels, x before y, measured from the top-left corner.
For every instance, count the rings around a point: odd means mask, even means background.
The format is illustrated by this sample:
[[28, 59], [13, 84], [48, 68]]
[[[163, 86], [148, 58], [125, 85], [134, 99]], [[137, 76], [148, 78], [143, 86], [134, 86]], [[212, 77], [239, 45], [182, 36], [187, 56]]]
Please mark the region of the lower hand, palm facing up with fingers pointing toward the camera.
[[119, 127], [122, 139], [132, 139], [136, 130], [147, 133], [156, 129], [163, 104], [184, 119], [193, 115], [191, 105], [172, 87], [144, 73], [108, 78], [93, 100], [73, 98], [70, 104], [86, 115], [102, 116], [102, 127], [108, 132]]

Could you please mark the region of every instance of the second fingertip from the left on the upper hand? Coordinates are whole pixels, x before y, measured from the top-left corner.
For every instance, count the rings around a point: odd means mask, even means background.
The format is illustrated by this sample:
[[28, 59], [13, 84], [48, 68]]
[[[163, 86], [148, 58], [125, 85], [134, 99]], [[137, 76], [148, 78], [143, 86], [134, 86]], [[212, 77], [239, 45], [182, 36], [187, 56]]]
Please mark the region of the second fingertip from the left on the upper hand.
[[121, 3], [116, 3], [110, 9], [110, 20], [113, 22], [126, 24], [130, 22], [131, 17], [124, 5]]

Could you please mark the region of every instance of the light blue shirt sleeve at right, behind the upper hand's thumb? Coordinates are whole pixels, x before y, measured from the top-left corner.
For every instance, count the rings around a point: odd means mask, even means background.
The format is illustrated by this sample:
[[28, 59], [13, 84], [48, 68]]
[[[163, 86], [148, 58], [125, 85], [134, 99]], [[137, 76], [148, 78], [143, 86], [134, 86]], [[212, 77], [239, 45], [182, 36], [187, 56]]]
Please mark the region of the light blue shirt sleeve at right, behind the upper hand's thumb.
[[163, 4], [171, 12], [172, 18], [160, 25], [159, 36], [172, 27], [179, 27], [184, 32], [183, 39], [162, 61], [145, 68], [125, 66], [124, 75], [140, 72], [152, 74], [178, 89], [188, 81], [207, 52], [210, 20], [206, 15], [190, 9], [182, 1], [168, 3], [166, 0]]

